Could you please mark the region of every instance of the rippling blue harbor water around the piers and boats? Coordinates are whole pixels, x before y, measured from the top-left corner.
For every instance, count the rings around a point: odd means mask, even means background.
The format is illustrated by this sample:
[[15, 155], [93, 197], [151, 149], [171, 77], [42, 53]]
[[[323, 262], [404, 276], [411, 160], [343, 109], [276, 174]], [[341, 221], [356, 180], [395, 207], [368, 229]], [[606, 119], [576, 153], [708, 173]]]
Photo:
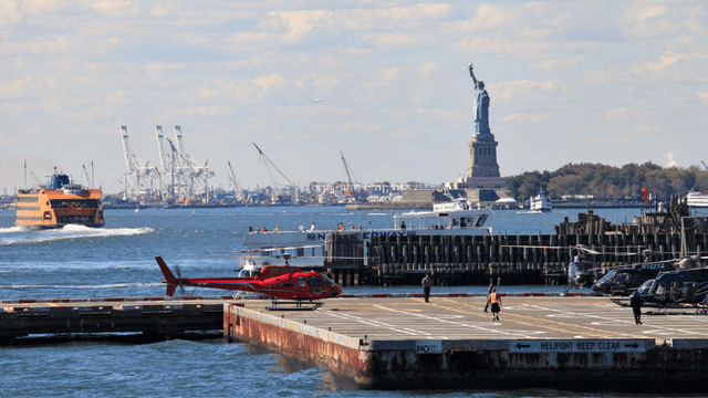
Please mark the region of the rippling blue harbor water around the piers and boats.
[[[497, 211], [494, 233], [554, 233], [564, 217]], [[623, 222], [639, 210], [595, 213]], [[185, 276], [232, 276], [248, 227], [294, 230], [313, 221], [391, 228], [392, 211], [346, 211], [343, 207], [106, 210], [106, 227], [32, 231], [13, 227], [14, 211], [0, 210], [0, 300], [162, 296], [163, 275], [154, 260], [163, 255]], [[562, 286], [507, 286], [507, 292], [560, 292]], [[485, 293], [485, 286], [434, 287], [434, 293]], [[416, 286], [344, 287], [345, 294], [419, 292]], [[199, 291], [199, 294], [220, 294]], [[0, 397], [535, 397], [584, 396], [558, 390], [358, 391], [323, 367], [298, 364], [273, 353], [253, 352], [222, 341], [156, 344], [72, 343], [0, 348]], [[603, 396], [603, 395], [593, 395]], [[616, 397], [617, 395], [604, 395]]]

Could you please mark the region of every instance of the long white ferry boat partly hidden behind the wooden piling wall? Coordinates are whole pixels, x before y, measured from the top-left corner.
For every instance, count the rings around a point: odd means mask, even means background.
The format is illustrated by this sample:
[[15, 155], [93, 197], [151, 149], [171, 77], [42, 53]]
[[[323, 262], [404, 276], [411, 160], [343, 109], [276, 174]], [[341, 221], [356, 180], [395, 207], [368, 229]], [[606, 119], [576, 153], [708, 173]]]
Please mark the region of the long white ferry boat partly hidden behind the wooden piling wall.
[[[391, 229], [358, 229], [339, 233], [361, 234], [364, 241], [364, 265], [368, 264], [367, 243], [372, 237], [408, 235], [491, 235], [485, 222], [490, 209], [471, 209], [466, 199], [434, 205], [433, 211], [410, 211], [394, 216]], [[243, 250], [250, 252], [241, 263], [249, 274], [263, 265], [282, 264], [285, 256], [290, 265], [316, 269], [324, 265], [326, 237], [335, 230], [253, 232], [243, 237]]]

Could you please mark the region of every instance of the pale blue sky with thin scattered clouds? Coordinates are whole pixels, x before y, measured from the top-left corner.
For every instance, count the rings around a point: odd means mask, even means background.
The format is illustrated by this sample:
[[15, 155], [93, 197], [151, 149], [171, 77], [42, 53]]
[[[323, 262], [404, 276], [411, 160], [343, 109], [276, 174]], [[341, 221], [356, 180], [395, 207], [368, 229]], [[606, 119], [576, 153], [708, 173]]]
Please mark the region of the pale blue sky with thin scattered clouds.
[[[285, 179], [440, 184], [491, 98], [502, 176], [568, 164], [708, 161], [701, 1], [0, 1], [0, 193], [54, 167], [104, 192], [121, 126], [155, 126], [228, 187]], [[312, 100], [322, 100], [313, 102]], [[28, 177], [28, 185], [34, 178]]]

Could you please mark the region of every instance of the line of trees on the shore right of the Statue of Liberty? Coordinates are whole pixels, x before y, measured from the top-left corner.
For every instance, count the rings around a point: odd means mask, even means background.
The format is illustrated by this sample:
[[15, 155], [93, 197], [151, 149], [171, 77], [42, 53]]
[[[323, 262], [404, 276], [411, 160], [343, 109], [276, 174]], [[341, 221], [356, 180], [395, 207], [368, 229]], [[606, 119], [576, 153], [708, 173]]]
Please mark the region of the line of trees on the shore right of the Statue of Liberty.
[[686, 196], [691, 189], [708, 193], [708, 170], [698, 166], [662, 167], [650, 161], [622, 167], [569, 164], [555, 171], [527, 171], [507, 177], [507, 186], [517, 200], [535, 196], [539, 189], [553, 199], [644, 200], [642, 188], [658, 200], [669, 200], [671, 195]]

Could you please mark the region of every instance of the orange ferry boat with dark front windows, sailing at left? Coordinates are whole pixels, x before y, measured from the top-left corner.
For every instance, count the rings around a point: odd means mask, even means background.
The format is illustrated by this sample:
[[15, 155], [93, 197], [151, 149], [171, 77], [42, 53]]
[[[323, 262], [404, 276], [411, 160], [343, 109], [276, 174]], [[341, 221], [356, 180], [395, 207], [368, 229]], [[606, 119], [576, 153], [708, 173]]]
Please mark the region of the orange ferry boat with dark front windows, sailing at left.
[[14, 223], [29, 228], [103, 227], [101, 195], [101, 189], [85, 189], [54, 171], [49, 186], [18, 191]]

